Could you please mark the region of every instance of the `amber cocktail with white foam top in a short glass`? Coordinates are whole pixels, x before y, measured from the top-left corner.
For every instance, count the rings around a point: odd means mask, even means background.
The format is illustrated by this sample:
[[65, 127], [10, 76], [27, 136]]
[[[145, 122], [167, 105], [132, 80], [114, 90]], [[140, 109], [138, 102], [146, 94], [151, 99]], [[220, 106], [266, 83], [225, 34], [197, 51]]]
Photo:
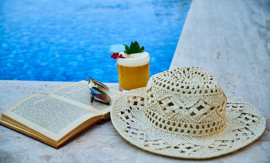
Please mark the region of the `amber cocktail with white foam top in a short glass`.
[[125, 54], [127, 58], [117, 58], [117, 71], [120, 91], [129, 91], [145, 87], [149, 80], [150, 55], [144, 51], [136, 54]]

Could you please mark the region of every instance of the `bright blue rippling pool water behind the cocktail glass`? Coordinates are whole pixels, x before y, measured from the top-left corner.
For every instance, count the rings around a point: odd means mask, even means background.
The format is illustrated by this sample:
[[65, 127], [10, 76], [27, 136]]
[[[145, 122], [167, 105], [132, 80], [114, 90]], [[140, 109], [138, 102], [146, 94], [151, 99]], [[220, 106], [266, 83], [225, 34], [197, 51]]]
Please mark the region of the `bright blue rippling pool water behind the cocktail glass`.
[[191, 0], [1, 0], [0, 80], [118, 82], [113, 52], [137, 41], [169, 69]]

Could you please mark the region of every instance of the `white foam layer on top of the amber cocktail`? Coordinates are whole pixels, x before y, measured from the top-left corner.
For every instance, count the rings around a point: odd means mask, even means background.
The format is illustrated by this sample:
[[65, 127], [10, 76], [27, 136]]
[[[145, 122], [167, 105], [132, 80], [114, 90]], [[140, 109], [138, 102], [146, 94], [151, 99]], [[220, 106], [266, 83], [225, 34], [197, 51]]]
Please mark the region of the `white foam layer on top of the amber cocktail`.
[[119, 54], [122, 54], [123, 57], [126, 58], [117, 58], [117, 64], [126, 67], [142, 66], [146, 65], [150, 61], [150, 58], [148, 57], [149, 53], [146, 51], [135, 54], [126, 54], [124, 52], [120, 52]]

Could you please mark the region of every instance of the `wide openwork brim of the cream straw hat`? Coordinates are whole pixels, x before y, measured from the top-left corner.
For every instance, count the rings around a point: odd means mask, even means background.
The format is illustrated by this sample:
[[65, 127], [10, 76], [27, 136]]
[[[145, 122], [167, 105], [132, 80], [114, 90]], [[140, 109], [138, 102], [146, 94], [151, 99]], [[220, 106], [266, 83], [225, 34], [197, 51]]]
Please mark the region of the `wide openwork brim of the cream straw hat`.
[[111, 107], [111, 121], [119, 134], [131, 144], [165, 156], [205, 159], [232, 153], [262, 135], [266, 128], [263, 115], [253, 105], [227, 96], [227, 128], [207, 136], [187, 136], [164, 131], [145, 116], [146, 88], [119, 96]]

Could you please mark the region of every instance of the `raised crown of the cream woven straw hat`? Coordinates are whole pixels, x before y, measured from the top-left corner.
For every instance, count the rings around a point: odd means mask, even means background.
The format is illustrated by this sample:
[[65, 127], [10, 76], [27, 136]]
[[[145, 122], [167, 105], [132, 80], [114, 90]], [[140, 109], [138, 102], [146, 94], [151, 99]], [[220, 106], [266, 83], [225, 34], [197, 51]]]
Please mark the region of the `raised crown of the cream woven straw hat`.
[[218, 81], [198, 67], [153, 75], [146, 87], [145, 115], [168, 132], [204, 136], [227, 126], [226, 95]]

